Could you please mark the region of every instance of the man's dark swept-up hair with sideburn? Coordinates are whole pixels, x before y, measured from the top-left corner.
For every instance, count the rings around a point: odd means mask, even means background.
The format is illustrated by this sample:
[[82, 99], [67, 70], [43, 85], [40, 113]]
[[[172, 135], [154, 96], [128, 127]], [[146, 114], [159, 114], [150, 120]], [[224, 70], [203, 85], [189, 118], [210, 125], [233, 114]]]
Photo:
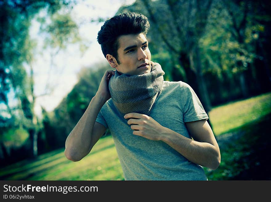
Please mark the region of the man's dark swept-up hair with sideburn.
[[98, 43], [101, 45], [103, 55], [111, 54], [118, 61], [118, 38], [126, 34], [143, 33], [146, 37], [150, 24], [148, 18], [139, 13], [129, 12], [115, 15], [106, 20], [98, 32]]

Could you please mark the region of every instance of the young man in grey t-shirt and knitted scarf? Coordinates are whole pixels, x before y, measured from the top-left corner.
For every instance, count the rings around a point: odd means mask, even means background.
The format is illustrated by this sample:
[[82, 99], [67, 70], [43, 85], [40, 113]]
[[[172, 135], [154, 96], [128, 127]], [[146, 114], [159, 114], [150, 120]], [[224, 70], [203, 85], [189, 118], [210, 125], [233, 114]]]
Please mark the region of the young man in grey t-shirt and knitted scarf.
[[164, 81], [151, 61], [146, 16], [123, 13], [98, 33], [115, 71], [104, 73], [96, 95], [66, 140], [65, 155], [79, 161], [108, 128], [125, 180], [207, 180], [202, 166], [216, 169], [220, 151], [193, 89]]

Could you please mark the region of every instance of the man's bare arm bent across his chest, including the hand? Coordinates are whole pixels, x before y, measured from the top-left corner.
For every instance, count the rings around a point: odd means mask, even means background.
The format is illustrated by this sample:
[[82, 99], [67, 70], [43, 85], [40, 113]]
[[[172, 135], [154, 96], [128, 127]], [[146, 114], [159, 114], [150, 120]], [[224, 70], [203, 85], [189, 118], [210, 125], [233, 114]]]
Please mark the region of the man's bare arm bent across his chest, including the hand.
[[139, 113], [125, 115], [129, 118], [134, 135], [150, 140], [164, 141], [193, 163], [216, 169], [220, 164], [220, 151], [214, 134], [205, 120], [186, 123], [193, 140], [163, 127], [152, 117]]

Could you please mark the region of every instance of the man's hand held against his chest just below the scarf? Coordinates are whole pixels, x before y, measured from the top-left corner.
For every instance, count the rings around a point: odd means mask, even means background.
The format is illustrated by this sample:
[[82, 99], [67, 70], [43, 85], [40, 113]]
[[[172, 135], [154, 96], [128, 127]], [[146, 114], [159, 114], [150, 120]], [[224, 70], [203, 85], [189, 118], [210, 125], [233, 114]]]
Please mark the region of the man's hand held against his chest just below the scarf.
[[124, 118], [129, 119], [127, 123], [131, 125], [131, 129], [134, 130], [134, 135], [142, 136], [150, 140], [160, 140], [164, 127], [152, 117], [140, 113], [128, 113], [124, 115]]

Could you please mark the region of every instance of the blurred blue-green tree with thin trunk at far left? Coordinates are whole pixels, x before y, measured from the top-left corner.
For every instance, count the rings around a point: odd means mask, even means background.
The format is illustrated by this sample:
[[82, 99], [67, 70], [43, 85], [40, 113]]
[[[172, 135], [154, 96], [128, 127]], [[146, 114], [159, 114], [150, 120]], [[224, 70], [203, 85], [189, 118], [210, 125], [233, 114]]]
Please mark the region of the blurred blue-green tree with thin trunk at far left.
[[[34, 95], [33, 61], [36, 44], [29, 35], [31, 20], [40, 10], [47, 12], [51, 16], [51, 24], [42, 27], [41, 30], [47, 31], [47, 34], [51, 36], [47, 38], [48, 44], [54, 45], [54, 48], [63, 48], [66, 43], [79, 40], [76, 34], [77, 26], [69, 15], [57, 13], [63, 7], [71, 8], [72, 4], [68, 0], [9, 0], [0, 3], [2, 19], [0, 82], [1, 87], [3, 86], [0, 102], [6, 105], [9, 116], [16, 117], [18, 120], [10, 122], [10, 125], [6, 125], [5, 128], [8, 130], [21, 125], [28, 131], [33, 157], [38, 154], [37, 140], [42, 124], [34, 113], [36, 95]], [[29, 74], [26, 73], [25, 66], [30, 68]], [[10, 108], [10, 100], [7, 97], [10, 92], [14, 92], [14, 99], [17, 99], [17, 104], [13, 106], [13, 109]]]

